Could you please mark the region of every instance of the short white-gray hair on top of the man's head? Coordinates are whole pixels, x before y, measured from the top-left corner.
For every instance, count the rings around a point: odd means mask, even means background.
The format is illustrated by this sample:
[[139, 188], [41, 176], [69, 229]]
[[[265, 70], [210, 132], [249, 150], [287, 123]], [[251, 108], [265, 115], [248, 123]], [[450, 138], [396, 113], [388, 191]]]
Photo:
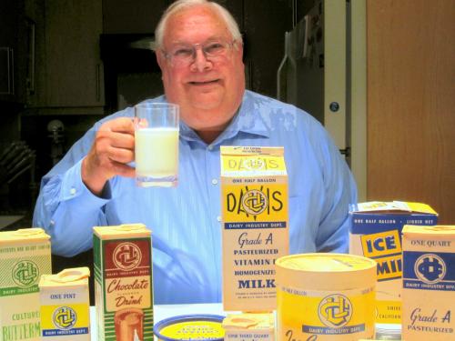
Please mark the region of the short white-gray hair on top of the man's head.
[[217, 15], [221, 16], [221, 18], [225, 21], [227, 29], [232, 35], [233, 39], [239, 42], [240, 44], [243, 43], [242, 35], [240, 34], [240, 30], [238, 29], [236, 19], [234, 19], [234, 17], [222, 5], [218, 5], [217, 3], [207, 0], [177, 0], [175, 3], [167, 7], [167, 10], [161, 16], [157, 28], [155, 29], [156, 50], [163, 47], [163, 37], [165, 35], [167, 19], [171, 15], [177, 13], [178, 11], [197, 5], [206, 5], [207, 7], [212, 8], [217, 13]]

